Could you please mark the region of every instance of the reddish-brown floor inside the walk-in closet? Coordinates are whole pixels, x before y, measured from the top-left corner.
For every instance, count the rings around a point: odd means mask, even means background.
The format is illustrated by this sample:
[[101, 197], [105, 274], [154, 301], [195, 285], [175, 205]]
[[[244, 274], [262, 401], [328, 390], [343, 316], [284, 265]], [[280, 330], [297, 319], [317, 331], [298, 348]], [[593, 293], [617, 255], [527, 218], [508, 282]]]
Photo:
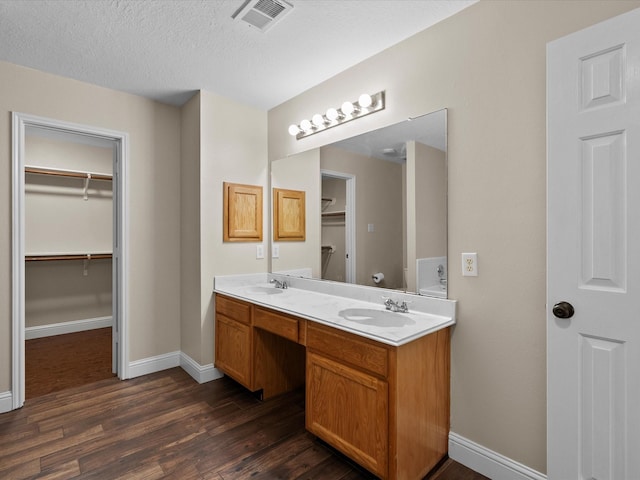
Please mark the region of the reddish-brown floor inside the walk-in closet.
[[25, 342], [26, 399], [111, 377], [110, 327]]

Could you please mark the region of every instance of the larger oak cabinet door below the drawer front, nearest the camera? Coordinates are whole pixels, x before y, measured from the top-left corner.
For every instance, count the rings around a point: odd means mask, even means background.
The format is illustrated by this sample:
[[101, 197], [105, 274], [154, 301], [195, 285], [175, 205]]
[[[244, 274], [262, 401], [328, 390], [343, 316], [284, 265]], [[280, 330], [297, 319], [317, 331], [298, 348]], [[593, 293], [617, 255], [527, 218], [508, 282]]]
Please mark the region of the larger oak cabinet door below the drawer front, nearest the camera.
[[387, 477], [388, 384], [307, 352], [307, 430]]

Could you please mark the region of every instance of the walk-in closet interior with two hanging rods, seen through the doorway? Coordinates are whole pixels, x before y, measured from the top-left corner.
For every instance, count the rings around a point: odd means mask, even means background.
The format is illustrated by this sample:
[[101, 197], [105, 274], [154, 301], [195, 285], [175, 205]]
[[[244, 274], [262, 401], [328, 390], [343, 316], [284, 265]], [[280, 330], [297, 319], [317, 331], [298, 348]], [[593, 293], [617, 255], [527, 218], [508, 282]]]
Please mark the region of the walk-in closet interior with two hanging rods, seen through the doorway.
[[114, 147], [79, 134], [25, 136], [25, 398], [115, 373]]

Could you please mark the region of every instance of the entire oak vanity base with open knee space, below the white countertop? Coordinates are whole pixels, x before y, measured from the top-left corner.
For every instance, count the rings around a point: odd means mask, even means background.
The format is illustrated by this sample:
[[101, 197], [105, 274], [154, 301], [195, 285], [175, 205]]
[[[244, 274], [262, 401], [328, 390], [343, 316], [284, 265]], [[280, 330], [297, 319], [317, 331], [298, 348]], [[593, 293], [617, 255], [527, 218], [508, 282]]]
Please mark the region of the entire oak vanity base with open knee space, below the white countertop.
[[394, 347], [216, 295], [216, 367], [264, 398], [305, 385], [307, 430], [382, 479], [447, 454], [449, 359], [449, 328]]

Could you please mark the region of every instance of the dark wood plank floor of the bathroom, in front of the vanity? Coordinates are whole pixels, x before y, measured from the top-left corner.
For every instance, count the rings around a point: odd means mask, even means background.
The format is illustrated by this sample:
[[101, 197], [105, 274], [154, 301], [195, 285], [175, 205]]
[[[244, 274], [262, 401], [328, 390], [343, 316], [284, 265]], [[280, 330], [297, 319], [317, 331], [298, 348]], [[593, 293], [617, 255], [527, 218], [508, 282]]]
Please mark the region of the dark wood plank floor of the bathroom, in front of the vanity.
[[[302, 391], [261, 402], [180, 368], [102, 380], [0, 415], [3, 479], [374, 478], [304, 428]], [[481, 480], [451, 460], [438, 480]]]

